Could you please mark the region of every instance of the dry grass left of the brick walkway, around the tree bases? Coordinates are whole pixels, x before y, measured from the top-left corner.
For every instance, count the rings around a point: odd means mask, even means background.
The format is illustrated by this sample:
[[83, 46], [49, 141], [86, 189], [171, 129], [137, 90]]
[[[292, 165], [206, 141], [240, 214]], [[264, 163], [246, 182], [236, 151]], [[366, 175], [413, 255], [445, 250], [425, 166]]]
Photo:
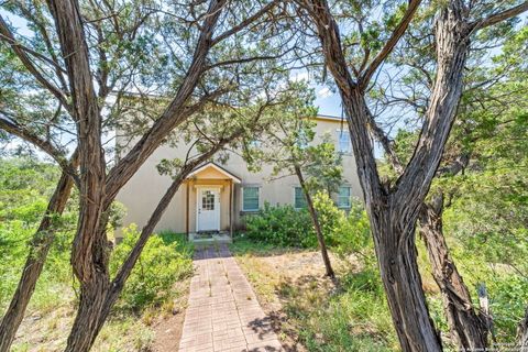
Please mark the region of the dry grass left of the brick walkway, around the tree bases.
[[[141, 316], [112, 316], [99, 333], [92, 351], [177, 351], [190, 278], [174, 286], [174, 300], [145, 310]], [[65, 287], [61, 300], [32, 310], [20, 326], [13, 352], [63, 351], [75, 319], [75, 297]]]

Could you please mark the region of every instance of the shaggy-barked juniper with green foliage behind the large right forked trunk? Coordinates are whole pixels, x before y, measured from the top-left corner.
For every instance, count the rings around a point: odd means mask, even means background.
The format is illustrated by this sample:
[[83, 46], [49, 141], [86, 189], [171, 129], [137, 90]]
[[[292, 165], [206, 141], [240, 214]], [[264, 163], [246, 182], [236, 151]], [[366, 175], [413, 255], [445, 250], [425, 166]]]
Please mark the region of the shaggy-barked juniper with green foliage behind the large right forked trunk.
[[[427, 13], [426, 11], [422, 11]], [[419, 122], [427, 110], [427, 96], [432, 88], [435, 70], [435, 53], [430, 40], [431, 14], [420, 16], [420, 21], [410, 29], [411, 35], [387, 61], [393, 68], [398, 68], [399, 79], [392, 79], [391, 85], [378, 84], [378, 90], [371, 94], [381, 110], [397, 106], [406, 113], [394, 116], [386, 124], [402, 123], [405, 118], [407, 124]], [[457, 198], [457, 179], [461, 174], [482, 167], [482, 146], [495, 145], [495, 135], [513, 133], [502, 120], [514, 123], [517, 120], [505, 116], [505, 108], [522, 110], [522, 89], [519, 87], [522, 78], [522, 64], [516, 63], [515, 57], [520, 53], [505, 53], [488, 59], [483, 47], [503, 45], [515, 31], [515, 21], [503, 23], [498, 28], [491, 28], [475, 38], [475, 50], [471, 51], [466, 63], [466, 75], [461, 102], [457, 110], [457, 122], [450, 140], [447, 143], [436, 182], [429, 191], [419, 216], [419, 231], [424, 239], [432, 275], [442, 294], [444, 312], [451, 332], [452, 341], [461, 349], [477, 349], [487, 345], [487, 337], [492, 327], [491, 316], [483, 309], [475, 308], [470, 289], [459, 273], [450, 255], [443, 234], [442, 213], [444, 201], [449, 206]], [[520, 31], [522, 32], [522, 31]], [[509, 44], [507, 46], [510, 46]], [[519, 50], [519, 45], [516, 46]], [[417, 55], [408, 55], [416, 53]], [[520, 54], [521, 55], [521, 54]], [[519, 89], [520, 88], [520, 89]], [[509, 131], [509, 132], [508, 132]], [[413, 147], [419, 135], [416, 133], [398, 133], [397, 140], [389, 141], [388, 135], [381, 129], [376, 130], [375, 138], [381, 141], [387, 162], [392, 165], [393, 177], [399, 175], [402, 165], [405, 165], [413, 154]], [[512, 134], [513, 135], [513, 134]], [[515, 140], [515, 139], [514, 139]], [[514, 146], [515, 142], [512, 143]], [[503, 157], [499, 148], [496, 157]], [[451, 186], [448, 186], [451, 185]], [[447, 200], [446, 200], [447, 198]], [[454, 199], [453, 199], [454, 198]], [[463, 242], [461, 242], [463, 243]], [[515, 248], [515, 245], [514, 245]]]

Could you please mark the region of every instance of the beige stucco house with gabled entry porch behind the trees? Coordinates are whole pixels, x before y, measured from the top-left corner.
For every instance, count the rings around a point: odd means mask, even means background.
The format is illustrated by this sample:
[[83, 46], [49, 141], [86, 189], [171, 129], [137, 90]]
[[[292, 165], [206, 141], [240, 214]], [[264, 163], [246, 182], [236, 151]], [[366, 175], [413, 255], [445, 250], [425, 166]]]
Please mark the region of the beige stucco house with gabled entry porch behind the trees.
[[[336, 150], [342, 153], [343, 183], [339, 193], [332, 197], [339, 207], [346, 209], [350, 207], [351, 198], [361, 198], [346, 124], [343, 124], [340, 118], [328, 116], [318, 116], [316, 122], [314, 142], [318, 143], [323, 134], [330, 134], [336, 143]], [[136, 223], [141, 228], [146, 223], [160, 198], [170, 185], [170, 178], [160, 175], [156, 165], [163, 158], [184, 158], [186, 153], [186, 145], [161, 146], [121, 189], [117, 199], [128, 209], [124, 226]], [[268, 165], [263, 165], [258, 173], [250, 172], [246, 163], [237, 153], [231, 153], [224, 165], [215, 163], [201, 165], [178, 189], [156, 230], [188, 234], [219, 231], [231, 234], [234, 230], [243, 228], [246, 215], [257, 212], [265, 202], [292, 205], [295, 208], [305, 206], [295, 176], [271, 180], [271, 175], [272, 167]]]

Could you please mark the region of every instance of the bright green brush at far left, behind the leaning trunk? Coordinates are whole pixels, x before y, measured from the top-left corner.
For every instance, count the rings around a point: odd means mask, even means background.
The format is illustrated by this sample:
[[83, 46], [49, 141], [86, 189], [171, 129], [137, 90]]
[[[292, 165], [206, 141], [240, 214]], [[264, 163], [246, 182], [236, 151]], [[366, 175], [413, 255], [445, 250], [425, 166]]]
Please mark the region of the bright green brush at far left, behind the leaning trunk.
[[[0, 311], [16, 288], [20, 271], [58, 179], [57, 167], [32, 158], [0, 158]], [[32, 298], [32, 307], [56, 304], [62, 284], [72, 285], [69, 251], [75, 202], [54, 217], [55, 240]], [[47, 235], [47, 233], [41, 233]]]

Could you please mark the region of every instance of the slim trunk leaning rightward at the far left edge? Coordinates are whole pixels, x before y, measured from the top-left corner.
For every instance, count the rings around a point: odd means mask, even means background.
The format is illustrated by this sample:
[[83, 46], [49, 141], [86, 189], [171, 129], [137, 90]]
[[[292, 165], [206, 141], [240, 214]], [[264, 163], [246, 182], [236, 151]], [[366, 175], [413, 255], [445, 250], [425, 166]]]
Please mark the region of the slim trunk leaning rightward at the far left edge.
[[41, 220], [38, 229], [33, 235], [30, 254], [24, 264], [16, 290], [11, 298], [11, 304], [0, 323], [0, 352], [9, 351], [19, 329], [24, 312], [35, 290], [36, 282], [41, 276], [44, 262], [55, 238], [53, 217], [61, 216], [69, 199], [74, 182], [63, 172], [57, 187], [47, 205], [46, 212]]

